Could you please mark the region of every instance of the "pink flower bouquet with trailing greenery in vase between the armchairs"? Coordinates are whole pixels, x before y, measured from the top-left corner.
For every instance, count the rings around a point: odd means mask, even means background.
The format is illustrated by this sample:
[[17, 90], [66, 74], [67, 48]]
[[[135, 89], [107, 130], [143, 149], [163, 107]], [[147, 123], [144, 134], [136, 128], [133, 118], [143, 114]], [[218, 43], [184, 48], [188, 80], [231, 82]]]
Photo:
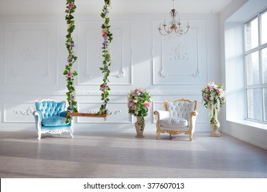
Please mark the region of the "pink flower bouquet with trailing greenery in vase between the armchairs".
[[128, 95], [128, 112], [129, 114], [140, 117], [140, 130], [144, 130], [144, 117], [147, 116], [149, 108], [151, 108], [151, 96], [143, 88], [136, 88], [130, 91]]

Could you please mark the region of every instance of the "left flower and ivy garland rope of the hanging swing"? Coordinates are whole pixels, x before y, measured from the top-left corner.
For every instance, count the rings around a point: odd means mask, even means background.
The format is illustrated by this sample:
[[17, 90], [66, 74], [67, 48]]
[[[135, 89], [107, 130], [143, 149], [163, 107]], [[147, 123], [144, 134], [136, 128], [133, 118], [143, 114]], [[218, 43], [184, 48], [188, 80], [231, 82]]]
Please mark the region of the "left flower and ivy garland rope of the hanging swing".
[[[74, 21], [74, 12], [76, 9], [75, 0], [66, 0], [66, 16], [65, 20], [68, 25], [66, 35], [66, 48], [68, 49], [68, 58], [66, 68], [63, 72], [66, 75], [66, 87], [68, 88], [68, 92], [66, 93], [67, 101], [68, 101], [68, 112], [77, 112], [77, 101], [76, 99], [76, 92], [75, 92], [75, 82], [74, 77], [77, 75], [76, 71], [73, 71], [73, 64], [77, 60], [77, 56], [75, 56], [75, 43], [73, 41], [73, 37], [71, 34], [75, 29], [75, 21]], [[66, 123], [70, 121], [71, 117], [66, 117]]]

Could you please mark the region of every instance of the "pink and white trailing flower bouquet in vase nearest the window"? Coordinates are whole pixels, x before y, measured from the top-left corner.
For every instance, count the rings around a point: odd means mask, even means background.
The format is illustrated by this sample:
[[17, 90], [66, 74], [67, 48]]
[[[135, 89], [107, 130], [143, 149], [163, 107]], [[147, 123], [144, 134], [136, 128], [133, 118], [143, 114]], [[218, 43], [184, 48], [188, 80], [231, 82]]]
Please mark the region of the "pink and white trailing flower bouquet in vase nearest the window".
[[202, 102], [209, 110], [210, 124], [214, 125], [215, 129], [218, 129], [218, 113], [220, 107], [225, 104], [225, 90], [223, 85], [216, 85], [214, 82], [208, 82], [202, 89]]

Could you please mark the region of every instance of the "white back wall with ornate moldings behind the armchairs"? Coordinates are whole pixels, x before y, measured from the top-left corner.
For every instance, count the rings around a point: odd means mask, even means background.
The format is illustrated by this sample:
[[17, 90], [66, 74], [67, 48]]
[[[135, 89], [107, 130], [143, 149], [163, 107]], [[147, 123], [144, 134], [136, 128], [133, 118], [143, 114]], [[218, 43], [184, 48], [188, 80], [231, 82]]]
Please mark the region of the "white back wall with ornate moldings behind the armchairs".
[[[75, 18], [79, 111], [98, 110], [102, 20], [99, 15], [77, 14]], [[107, 121], [78, 117], [75, 131], [135, 132], [136, 119], [127, 112], [127, 93], [142, 87], [153, 99], [145, 131], [155, 132], [153, 110], [163, 109], [165, 99], [185, 98], [198, 101], [196, 132], [210, 132], [201, 88], [209, 80], [222, 82], [218, 14], [181, 15], [191, 25], [182, 38], [159, 35], [157, 26], [164, 18], [168, 19], [163, 14], [111, 14], [114, 61], [107, 108], [121, 112]], [[65, 35], [64, 15], [0, 17], [1, 131], [35, 130], [34, 117], [27, 115], [34, 100], [66, 99]]]

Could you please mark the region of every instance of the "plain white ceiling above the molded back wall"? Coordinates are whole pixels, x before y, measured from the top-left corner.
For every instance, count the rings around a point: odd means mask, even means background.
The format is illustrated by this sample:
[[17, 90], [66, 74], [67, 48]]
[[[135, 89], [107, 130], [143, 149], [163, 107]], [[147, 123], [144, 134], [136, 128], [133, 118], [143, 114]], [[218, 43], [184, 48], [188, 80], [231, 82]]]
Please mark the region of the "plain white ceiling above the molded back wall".
[[[235, 0], [175, 0], [182, 14], [219, 13]], [[66, 0], [0, 0], [0, 15], [64, 14]], [[103, 0], [76, 0], [76, 14], [99, 14]], [[166, 14], [172, 0], [112, 0], [111, 14]]]

